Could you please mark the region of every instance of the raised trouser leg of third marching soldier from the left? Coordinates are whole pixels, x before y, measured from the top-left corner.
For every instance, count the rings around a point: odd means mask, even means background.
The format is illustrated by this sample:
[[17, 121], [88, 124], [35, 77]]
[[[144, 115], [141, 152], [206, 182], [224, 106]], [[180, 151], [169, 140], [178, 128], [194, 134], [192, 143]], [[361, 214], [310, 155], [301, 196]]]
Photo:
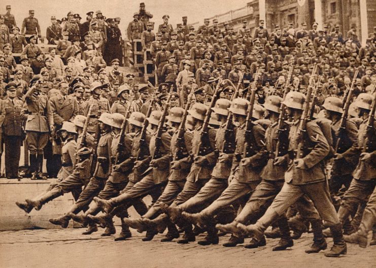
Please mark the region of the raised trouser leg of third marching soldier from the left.
[[80, 197], [74, 205], [74, 213], [80, 212], [83, 208], [87, 207], [93, 198], [105, 188], [107, 178], [92, 177], [85, 189], [81, 192]]

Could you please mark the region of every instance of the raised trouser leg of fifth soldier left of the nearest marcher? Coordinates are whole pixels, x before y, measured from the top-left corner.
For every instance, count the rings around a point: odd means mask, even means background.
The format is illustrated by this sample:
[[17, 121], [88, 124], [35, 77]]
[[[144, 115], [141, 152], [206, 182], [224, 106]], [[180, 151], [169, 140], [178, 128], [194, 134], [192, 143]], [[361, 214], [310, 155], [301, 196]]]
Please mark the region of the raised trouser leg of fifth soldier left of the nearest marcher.
[[168, 181], [158, 200], [143, 217], [150, 219], [160, 212], [162, 204], [166, 204], [168, 206], [171, 205], [178, 194], [183, 190], [185, 182], [186, 181]]

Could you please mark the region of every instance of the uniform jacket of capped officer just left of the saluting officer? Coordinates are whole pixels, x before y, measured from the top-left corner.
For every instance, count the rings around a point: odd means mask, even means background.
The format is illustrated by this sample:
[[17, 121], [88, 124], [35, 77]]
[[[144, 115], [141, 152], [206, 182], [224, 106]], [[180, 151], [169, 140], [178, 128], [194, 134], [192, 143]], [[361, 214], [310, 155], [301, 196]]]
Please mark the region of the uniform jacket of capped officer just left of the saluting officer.
[[3, 122], [3, 134], [6, 136], [21, 136], [21, 110], [23, 103], [20, 99], [17, 98], [14, 98], [13, 102], [10, 98], [6, 98], [3, 101], [3, 107], [5, 109], [5, 113], [3, 114], [5, 116]]

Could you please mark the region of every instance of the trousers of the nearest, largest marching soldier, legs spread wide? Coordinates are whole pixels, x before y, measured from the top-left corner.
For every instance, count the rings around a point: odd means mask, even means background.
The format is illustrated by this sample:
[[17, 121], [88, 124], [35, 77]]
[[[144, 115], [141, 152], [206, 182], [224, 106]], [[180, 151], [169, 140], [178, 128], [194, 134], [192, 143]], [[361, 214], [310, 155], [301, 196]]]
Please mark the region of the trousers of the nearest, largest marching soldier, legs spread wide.
[[[334, 206], [331, 203], [329, 189], [325, 181], [302, 185], [284, 183], [281, 191], [277, 194], [268, 210], [274, 210], [278, 215], [282, 215], [304, 194], [306, 194], [313, 201], [315, 208], [328, 226], [333, 226], [339, 223]], [[268, 213], [265, 213], [265, 215], [266, 214]], [[263, 217], [261, 217], [260, 221]]]

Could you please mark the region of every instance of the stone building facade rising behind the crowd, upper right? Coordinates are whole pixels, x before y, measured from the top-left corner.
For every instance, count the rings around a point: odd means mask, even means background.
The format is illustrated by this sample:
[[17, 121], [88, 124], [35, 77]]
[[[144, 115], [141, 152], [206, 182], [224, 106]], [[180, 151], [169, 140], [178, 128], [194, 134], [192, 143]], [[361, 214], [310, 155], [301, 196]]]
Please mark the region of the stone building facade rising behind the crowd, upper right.
[[[370, 34], [373, 32], [373, 27], [376, 26], [376, 0], [253, 0], [243, 8], [213, 16], [210, 20], [218, 19], [221, 28], [227, 21], [235, 31], [242, 27], [243, 20], [247, 20], [248, 27], [253, 32], [253, 29], [258, 26], [260, 18], [259, 7], [263, 5], [265, 14], [261, 14], [261, 17], [265, 18], [266, 28], [269, 32], [277, 24], [281, 28], [285, 28], [289, 23], [293, 23], [295, 28], [300, 28], [302, 22], [307, 23], [308, 29], [310, 29], [316, 21], [319, 23], [319, 28], [327, 25], [329, 30], [335, 24], [339, 24], [340, 31], [345, 35], [353, 28], [359, 39], [363, 39], [362, 32], [363, 35], [365, 32]], [[366, 10], [366, 16], [362, 19], [361, 9]], [[361, 29], [363, 19], [367, 20], [367, 31]]]

